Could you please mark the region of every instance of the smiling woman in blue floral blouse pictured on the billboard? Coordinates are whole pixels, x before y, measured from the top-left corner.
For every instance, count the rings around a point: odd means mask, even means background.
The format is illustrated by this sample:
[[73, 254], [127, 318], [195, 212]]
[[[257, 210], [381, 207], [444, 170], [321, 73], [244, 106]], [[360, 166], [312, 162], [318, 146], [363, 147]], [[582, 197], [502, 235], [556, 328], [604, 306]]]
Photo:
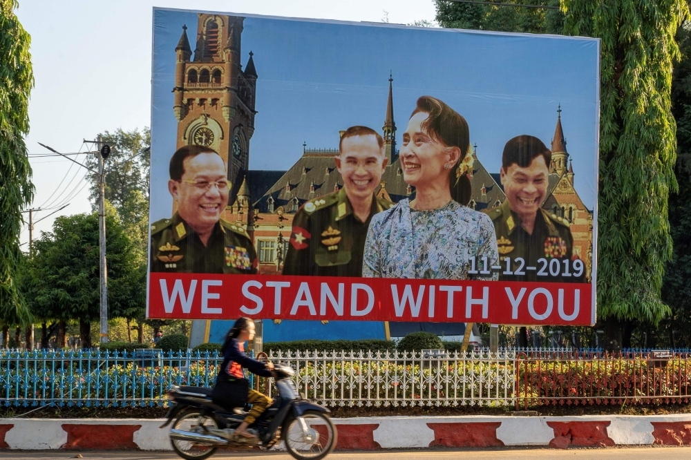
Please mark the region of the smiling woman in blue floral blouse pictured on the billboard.
[[363, 276], [465, 280], [478, 278], [468, 274], [471, 258], [498, 263], [491, 219], [466, 207], [472, 164], [466, 120], [435, 97], [417, 99], [401, 146], [404, 180], [415, 186], [415, 199], [372, 218]]

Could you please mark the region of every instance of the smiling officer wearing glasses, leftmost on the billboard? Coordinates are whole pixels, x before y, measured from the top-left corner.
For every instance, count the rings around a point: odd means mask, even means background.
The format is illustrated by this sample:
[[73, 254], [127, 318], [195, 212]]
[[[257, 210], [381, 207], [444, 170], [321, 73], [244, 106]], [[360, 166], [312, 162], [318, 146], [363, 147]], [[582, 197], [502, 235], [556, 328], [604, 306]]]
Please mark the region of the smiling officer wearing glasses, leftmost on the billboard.
[[245, 229], [220, 218], [229, 183], [218, 153], [184, 146], [173, 154], [169, 172], [178, 211], [151, 225], [151, 271], [256, 273], [256, 251]]

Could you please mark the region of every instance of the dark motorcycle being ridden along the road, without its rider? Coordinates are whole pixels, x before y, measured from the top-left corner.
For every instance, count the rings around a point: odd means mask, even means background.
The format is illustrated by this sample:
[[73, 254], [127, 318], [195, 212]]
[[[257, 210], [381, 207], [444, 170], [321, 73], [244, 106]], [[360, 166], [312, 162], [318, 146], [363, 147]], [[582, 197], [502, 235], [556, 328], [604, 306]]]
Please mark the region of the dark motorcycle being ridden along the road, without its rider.
[[245, 419], [243, 408], [220, 407], [211, 399], [211, 388], [173, 386], [168, 392], [167, 421], [173, 450], [187, 460], [203, 460], [218, 448], [269, 450], [283, 440], [285, 449], [298, 460], [319, 460], [336, 446], [338, 432], [330, 411], [307, 401], [292, 380], [295, 371], [274, 365], [278, 397], [249, 425], [253, 439], [236, 439], [235, 428]]

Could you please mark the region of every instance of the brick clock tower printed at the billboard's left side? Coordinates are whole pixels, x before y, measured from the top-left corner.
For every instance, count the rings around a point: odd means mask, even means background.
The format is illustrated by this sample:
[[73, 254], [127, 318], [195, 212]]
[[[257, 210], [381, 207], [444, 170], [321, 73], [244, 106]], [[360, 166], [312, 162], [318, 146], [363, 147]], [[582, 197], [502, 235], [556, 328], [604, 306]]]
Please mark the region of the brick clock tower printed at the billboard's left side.
[[196, 47], [191, 50], [187, 26], [176, 47], [173, 113], [178, 119], [177, 147], [213, 148], [228, 165], [235, 200], [249, 167], [249, 140], [254, 133], [257, 73], [252, 52], [240, 64], [243, 17], [199, 14]]

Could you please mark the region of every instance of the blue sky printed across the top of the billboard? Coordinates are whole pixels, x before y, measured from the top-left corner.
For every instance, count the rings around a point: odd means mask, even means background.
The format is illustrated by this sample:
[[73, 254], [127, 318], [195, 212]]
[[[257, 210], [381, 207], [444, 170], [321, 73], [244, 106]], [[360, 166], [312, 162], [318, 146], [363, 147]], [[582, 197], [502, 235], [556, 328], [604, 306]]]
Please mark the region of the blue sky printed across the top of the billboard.
[[[169, 217], [172, 207], [166, 185], [177, 129], [171, 90], [183, 24], [194, 48], [195, 12], [154, 12], [151, 220]], [[477, 156], [492, 173], [511, 137], [531, 134], [549, 146], [561, 104], [576, 190], [589, 209], [594, 206], [594, 39], [250, 16], [243, 64], [250, 50], [259, 76], [251, 169], [290, 168], [303, 142], [337, 148], [339, 130], [354, 124], [381, 131], [392, 72], [397, 143], [417, 97], [433, 95], [466, 118]]]

